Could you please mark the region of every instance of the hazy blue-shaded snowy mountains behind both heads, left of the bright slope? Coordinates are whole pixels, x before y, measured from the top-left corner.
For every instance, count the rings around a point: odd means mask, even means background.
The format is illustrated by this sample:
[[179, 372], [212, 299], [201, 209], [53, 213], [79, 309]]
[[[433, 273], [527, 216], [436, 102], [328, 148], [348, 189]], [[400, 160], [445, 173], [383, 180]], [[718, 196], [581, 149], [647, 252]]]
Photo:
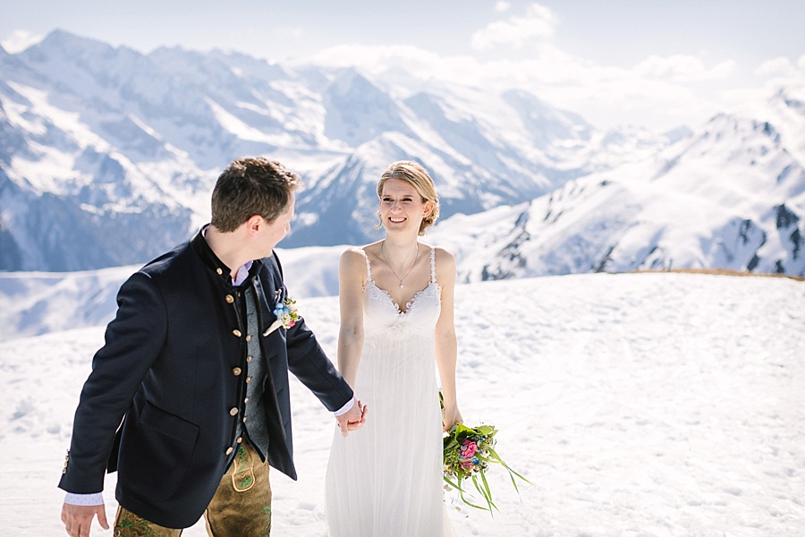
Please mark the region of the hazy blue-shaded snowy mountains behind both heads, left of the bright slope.
[[[207, 220], [216, 176], [244, 155], [305, 178], [288, 246], [370, 240], [370, 186], [396, 159], [431, 170], [449, 217], [636, 158], [524, 91], [402, 91], [398, 81], [220, 51], [142, 55], [61, 30], [3, 51], [0, 270], [148, 260]], [[615, 145], [634, 140], [626, 132]], [[650, 153], [672, 138], [649, 140]]]

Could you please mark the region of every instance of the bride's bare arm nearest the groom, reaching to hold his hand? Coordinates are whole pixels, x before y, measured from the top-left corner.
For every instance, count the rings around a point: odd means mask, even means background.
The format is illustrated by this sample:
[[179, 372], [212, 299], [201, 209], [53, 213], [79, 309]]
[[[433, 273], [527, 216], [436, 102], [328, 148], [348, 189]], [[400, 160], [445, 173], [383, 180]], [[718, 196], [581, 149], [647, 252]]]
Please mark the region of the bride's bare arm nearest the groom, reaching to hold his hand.
[[358, 248], [341, 255], [338, 266], [338, 303], [341, 329], [338, 332], [338, 371], [355, 388], [360, 351], [363, 348], [363, 287], [366, 285], [366, 258]]

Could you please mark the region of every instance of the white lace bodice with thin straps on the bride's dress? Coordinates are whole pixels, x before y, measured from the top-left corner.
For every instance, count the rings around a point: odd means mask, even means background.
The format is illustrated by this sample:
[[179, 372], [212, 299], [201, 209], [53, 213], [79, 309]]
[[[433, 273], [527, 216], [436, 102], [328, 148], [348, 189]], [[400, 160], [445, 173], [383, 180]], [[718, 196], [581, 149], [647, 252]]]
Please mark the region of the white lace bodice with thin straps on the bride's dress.
[[441, 288], [436, 282], [436, 250], [430, 247], [430, 282], [405, 304], [405, 310], [394, 303], [391, 294], [372, 279], [369, 256], [366, 258], [367, 282], [363, 288], [363, 328], [368, 339], [386, 337], [399, 340], [414, 335], [433, 337], [441, 311]]

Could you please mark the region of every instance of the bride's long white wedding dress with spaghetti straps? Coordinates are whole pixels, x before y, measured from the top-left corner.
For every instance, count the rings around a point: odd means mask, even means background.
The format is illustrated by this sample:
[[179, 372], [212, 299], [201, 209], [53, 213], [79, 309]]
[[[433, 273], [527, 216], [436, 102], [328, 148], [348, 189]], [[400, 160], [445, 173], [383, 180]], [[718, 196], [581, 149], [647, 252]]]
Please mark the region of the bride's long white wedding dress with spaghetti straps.
[[453, 535], [443, 501], [435, 251], [431, 247], [430, 283], [404, 311], [375, 285], [369, 258], [366, 268], [355, 393], [369, 415], [345, 439], [335, 431], [326, 473], [327, 528], [330, 537]]

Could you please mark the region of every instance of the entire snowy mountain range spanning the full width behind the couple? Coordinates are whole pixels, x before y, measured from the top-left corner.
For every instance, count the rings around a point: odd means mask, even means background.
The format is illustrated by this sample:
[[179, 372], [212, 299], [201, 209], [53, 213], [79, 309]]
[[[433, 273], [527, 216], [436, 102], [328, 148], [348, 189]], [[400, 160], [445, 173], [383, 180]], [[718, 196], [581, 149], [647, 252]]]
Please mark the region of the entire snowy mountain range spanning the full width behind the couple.
[[[0, 270], [144, 262], [208, 220], [216, 176], [266, 155], [303, 175], [286, 248], [367, 243], [377, 178], [434, 176], [462, 281], [641, 268], [805, 275], [805, 97], [691, 132], [597, 131], [522, 90], [126, 47], [54, 31], [0, 49]], [[411, 77], [411, 80], [412, 77]]]

